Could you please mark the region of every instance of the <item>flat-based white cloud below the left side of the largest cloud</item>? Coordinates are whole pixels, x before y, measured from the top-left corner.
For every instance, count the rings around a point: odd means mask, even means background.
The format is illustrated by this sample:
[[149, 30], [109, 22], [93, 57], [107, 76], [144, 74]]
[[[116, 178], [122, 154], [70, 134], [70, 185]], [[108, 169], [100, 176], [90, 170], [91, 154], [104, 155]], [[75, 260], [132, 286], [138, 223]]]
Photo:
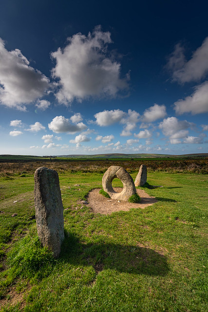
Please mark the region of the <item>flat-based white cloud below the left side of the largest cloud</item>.
[[55, 117], [49, 124], [48, 127], [55, 133], [69, 133], [75, 134], [81, 132], [87, 128], [83, 122], [72, 124], [68, 118], [63, 116]]

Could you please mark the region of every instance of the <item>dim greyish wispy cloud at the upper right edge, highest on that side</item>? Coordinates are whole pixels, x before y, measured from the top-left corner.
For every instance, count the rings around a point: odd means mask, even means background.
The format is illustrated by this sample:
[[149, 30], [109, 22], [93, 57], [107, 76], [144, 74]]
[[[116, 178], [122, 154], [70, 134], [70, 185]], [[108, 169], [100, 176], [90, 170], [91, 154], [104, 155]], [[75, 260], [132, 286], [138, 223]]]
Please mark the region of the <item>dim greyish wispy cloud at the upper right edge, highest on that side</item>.
[[173, 81], [185, 83], [199, 81], [208, 73], [208, 37], [202, 45], [193, 52], [191, 59], [186, 61], [184, 48], [177, 44], [170, 55], [167, 68], [172, 71]]

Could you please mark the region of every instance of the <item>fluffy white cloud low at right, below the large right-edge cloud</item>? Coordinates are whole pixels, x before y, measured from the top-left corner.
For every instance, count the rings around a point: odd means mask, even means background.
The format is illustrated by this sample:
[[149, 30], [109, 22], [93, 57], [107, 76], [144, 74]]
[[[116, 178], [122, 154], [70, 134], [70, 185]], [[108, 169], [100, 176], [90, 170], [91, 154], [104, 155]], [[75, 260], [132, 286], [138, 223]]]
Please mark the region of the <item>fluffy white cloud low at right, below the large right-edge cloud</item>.
[[181, 143], [182, 138], [188, 136], [190, 127], [194, 124], [187, 120], [179, 120], [176, 117], [168, 117], [160, 122], [159, 129], [162, 129], [163, 134], [170, 138], [171, 144]]

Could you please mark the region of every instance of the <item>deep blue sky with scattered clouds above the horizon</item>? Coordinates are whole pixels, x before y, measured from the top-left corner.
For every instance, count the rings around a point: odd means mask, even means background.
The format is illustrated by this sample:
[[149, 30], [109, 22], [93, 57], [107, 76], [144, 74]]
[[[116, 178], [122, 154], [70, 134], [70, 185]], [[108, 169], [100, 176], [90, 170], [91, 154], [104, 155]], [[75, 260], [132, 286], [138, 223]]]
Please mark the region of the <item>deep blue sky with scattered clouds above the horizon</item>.
[[208, 153], [207, 1], [0, 1], [0, 154]]

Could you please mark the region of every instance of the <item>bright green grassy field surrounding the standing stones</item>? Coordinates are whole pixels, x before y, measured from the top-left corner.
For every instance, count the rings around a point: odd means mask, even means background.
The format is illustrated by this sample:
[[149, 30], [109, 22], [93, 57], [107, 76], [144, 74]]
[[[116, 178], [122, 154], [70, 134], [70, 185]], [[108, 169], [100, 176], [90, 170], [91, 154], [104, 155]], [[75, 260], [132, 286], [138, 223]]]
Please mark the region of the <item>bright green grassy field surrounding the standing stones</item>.
[[81, 201], [102, 187], [101, 169], [57, 165], [65, 240], [54, 260], [36, 231], [33, 170], [41, 163], [30, 165], [1, 167], [1, 311], [207, 311], [208, 175], [151, 170], [149, 184], [163, 188], [144, 189], [157, 203], [100, 215]]

